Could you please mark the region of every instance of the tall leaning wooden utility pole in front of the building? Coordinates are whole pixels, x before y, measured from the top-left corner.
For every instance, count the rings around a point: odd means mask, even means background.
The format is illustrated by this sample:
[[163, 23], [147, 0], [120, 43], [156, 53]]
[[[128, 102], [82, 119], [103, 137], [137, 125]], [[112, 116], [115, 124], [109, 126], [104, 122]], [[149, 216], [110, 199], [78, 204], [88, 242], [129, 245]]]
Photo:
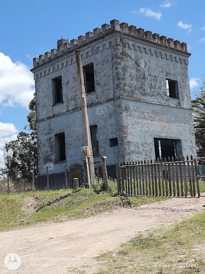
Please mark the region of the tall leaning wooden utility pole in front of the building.
[[81, 111], [82, 111], [84, 141], [85, 141], [85, 146], [89, 147], [88, 165], [89, 165], [90, 182], [91, 182], [91, 186], [93, 186], [95, 184], [94, 162], [93, 162], [93, 155], [92, 155], [92, 144], [91, 144], [91, 138], [90, 138], [89, 120], [87, 115], [87, 101], [86, 101], [86, 94], [85, 94], [84, 77], [83, 77], [83, 71], [82, 71], [82, 61], [81, 61], [80, 51], [75, 52], [75, 58], [77, 63], [77, 74], [78, 74], [78, 82], [79, 82], [79, 90], [80, 90], [80, 104], [81, 104]]

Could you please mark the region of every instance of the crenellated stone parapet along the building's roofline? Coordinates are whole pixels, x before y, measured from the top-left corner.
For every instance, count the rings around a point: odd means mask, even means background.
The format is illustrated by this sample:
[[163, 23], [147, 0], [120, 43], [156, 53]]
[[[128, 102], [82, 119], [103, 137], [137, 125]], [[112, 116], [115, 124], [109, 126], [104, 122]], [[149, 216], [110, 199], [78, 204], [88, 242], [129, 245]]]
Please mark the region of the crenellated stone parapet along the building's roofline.
[[85, 36], [81, 35], [78, 39], [72, 39], [69, 43], [68, 39], [60, 39], [57, 41], [57, 49], [52, 49], [51, 52], [46, 52], [44, 55], [39, 55], [33, 59], [33, 67], [36, 68], [39, 65], [42, 65], [50, 60], [55, 59], [58, 56], [61, 56], [65, 53], [69, 53], [78, 49], [81, 46], [87, 45], [90, 42], [102, 38], [107, 34], [112, 32], [119, 32], [122, 34], [131, 35], [146, 41], [151, 41], [156, 44], [173, 48], [182, 52], [187, 53], [186, 43], [180, 43], [178, 40], [173, 40], [172, 38], [166, 38], [166, 36], [160, 36], [157, 33], [152, 34], [151, 31], [145, 31], [144, 29], [138, 28], [136, 26], [128, 26], [127, 23], [121, 23], [114, 19], [109, 24], [104, 24], [101, 26], [101, 29], [96, 28], [93, 32], [85, 33]]

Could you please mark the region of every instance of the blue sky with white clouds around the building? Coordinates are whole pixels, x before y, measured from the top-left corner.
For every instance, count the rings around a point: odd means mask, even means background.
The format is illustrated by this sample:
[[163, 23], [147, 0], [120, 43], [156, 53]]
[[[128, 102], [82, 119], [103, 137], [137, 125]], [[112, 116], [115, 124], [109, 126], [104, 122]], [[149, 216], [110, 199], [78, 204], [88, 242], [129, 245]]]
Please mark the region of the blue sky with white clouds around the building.
[[205, 73], [205, 2], [198, 1], [4, 1], [0, 17], [0, 158], [5, 141], [27, 123], [34, 92], [32, 58], [77, 39], [112, 19], [188, 44], [191, 91]]

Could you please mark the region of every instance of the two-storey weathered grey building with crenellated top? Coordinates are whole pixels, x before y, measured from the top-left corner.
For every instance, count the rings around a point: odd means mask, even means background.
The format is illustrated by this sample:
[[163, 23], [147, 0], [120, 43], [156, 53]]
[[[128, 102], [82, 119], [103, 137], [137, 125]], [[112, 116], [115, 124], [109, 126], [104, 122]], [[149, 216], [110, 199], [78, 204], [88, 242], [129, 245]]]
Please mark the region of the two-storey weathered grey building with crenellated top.
[[82, 117], [75, 51], [80, 50], [94, 160], [196, 155], [186, 43], [112, 20], [34, 58], [39, 186], [82, 176]]

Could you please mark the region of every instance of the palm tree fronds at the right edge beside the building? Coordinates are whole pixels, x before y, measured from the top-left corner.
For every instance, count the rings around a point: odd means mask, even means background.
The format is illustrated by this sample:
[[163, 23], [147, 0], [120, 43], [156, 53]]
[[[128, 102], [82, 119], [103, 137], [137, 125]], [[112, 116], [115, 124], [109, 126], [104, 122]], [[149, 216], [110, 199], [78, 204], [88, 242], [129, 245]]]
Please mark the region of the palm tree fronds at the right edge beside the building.
[[201, 76], [202, 86], [192, 101], [193, 123], [198, 157], [205, 155], [205, 74]]

